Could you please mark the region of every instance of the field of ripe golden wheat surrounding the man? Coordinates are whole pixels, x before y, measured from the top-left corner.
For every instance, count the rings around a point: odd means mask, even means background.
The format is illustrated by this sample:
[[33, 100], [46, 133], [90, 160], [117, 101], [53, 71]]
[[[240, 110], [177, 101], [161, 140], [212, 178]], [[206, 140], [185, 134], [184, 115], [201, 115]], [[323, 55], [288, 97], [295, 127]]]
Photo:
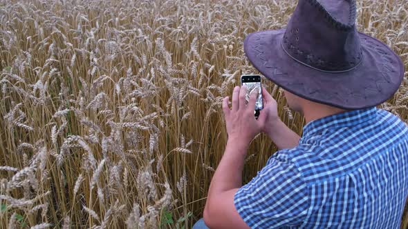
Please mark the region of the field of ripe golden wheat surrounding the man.
[[[190, 228], [227, 140], [221, 99], [257, 73], [243, 39], [284, 27], [295, 3], [0, 0], [0, 228]], [[405, 0], [358, 1], [358, 30], [406, 70], [407, 20]], [[378, 108], [408, 123], [407, 102], [406, 73]], [[252, 141], [244, 183], [276, 150]]]

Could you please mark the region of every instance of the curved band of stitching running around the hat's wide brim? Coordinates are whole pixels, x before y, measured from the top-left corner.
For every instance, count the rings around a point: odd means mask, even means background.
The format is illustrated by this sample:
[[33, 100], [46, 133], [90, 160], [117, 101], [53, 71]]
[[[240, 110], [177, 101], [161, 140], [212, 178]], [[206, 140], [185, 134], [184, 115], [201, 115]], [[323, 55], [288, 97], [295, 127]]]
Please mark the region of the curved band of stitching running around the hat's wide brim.
[[[261, 38], [265, 38], [264, 34], [257, 34], [257, 37], [260, 40]], [[358, 91], [351, 91], [347, 88], [344, 88], [344, 90], [346, 91], [346, 94], [342, 94], [342, 96], [340, 97], [339, 94], [336, 92], [333, 92], [331, 90], [326, 90], [326, 88], [310, 88], [310, 86], [308, 86], [308, 88], [305, 87], [304, 83], [302, 82], [296, 82], [293, 81], [292, 78], [290, 77], [284, 77], [286, 75], [288, 75], [288, 73], [286, 72], [280, 72], [279, 69], [272, 64], [270, 61], [268, 61], [266, 59], [265, 56], [263, 56], [263, 59], [261, 59], [263, 61], [263, 66], [265, 68], [270, 68], [273, 69], [270, 73], [272, 73], [272, 75], [274, 77], [279, 77], [280, 79], [283, 79], [283, 81], [285, 81], [285, 83], [287, 83], [288, 85], [298, 85], [297, 88], [299, 88], [299, 90], [301, 90], [302, 94], [322, 94], [324, 95], [324, 97], [326, 97], [327, 101], [332, 101], [333, 102], [333, 98], [336, 98], [340, 101], [342, 101], [342, 103], [344, 102], [349, 102], [351, 99], [353, 98], [358, 98], [358, 99], [366, 99], [372, 95], [372, 94], [377, 94], [378, 92], [382, 93], [382, 90], [380, 88], [380, 83], [391, 83], [390, 81], [390, 77], [389, 77], [389, 72], [395, 72], [395, 70], [393, 70], [393, 68], [391, 68], [388, 63], [391, 63], [391, 59], [389, 59], [389, 53], [387, 53], [387, 50], [384, 50], [382, 48], [380, 48], [379, 46], [376, 46], [375, 43], [373, 43], [373, 41], [369, 40], [367, 41], [367, 38], [361, 39], [362, 42], [364, 41], [364, 43], [367, 44], [367, 47], [369, 48], [373, 48], [376, 52], [378, 52], [381, 56], [382, 61], [382, 68], [383, 70], [381, 72], [378, 72], [380, 74], [382, 74], [382, 78], [383, 79], [378, 79], [375, 81], [375, 88], [371, 88], [371, 87], [364, 87], [364, 90], [358, 90]], [[256, 57], [259, 58], [259, 55], [264, 55], [264, 52], [259, 50], [258, 48], [260, 48], [259, 46], [262, 46], [261, 43], [259, 43], [259, 41], [256, 41], [257, 45], [256, 46], [252, 46], [253, 50], [256, 50], [257, 52], [259, 52]], [[254, 47], [257, 47], [257, 49], [255, 49]], [[297, 62], [298, 63], [298, 62]], [[333, 103], [332, 103], [333, 104]]]

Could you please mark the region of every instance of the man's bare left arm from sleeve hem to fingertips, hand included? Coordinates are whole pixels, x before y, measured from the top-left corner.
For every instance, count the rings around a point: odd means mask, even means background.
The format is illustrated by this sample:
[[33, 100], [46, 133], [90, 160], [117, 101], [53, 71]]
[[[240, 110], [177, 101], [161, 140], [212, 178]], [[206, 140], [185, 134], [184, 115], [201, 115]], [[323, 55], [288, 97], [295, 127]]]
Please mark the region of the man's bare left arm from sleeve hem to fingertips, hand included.
[[250, 94], [245, 105], [246, 86], [234, 88], [232, 110], [228, 97], [223, 99], [223, 112], [228, 142], [223, 158], [217, 166], [208, 190], [204, 208], [204, 222], [210, 228], [248, 228], [234, 206], [234, 195], [242, 186], [242, 170], [250, 141], [261, 132], [267, 113], [254, 118], [257, 93]]

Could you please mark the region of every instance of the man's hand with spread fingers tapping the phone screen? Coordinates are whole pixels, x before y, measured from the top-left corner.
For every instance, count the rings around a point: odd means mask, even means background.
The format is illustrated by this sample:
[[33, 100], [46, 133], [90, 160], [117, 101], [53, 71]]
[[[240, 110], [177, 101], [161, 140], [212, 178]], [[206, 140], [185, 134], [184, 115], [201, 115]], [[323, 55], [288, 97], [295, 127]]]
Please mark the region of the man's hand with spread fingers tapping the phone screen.
[[[243, 143], [250, 143], [255, 135], [263, 130], [267, 114], [262, 110], [258, 119], [255, 119], [254, 109], [257, 100], [257, 92], [252, 92], [250, 94], [250, 101], [248, 102], [248, 105], [246, 105], [246, 91], [246, 86], [242, 86], [241, 88], [236, 86], [232, 92], [232, 109], [228, 107], [229, 97], [225, 97], [223, 99], [223, 112], [227, 126], [228, 139], [237, 139]], [[272, 103], [272, 101], [269, 103]]]

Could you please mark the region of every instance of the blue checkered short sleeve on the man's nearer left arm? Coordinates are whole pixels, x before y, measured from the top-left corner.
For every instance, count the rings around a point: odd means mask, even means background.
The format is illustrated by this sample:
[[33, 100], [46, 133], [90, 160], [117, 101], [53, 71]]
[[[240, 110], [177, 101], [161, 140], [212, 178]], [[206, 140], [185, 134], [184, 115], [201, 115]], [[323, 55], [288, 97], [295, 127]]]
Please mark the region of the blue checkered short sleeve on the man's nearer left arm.
[[286, 155], [272, 155], [266, 166], [234, 195], [234, 205], [250, 228], [298, 226], [308, 206], [308, 188]]

